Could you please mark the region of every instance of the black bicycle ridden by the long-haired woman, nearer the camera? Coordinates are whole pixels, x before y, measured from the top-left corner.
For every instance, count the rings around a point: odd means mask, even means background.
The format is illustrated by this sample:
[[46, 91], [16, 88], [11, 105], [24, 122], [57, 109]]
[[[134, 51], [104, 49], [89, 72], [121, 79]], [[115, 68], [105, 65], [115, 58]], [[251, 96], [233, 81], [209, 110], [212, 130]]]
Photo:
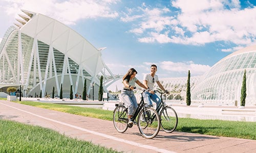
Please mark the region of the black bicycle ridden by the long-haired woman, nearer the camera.
[[[142, 90], [142, 89], [140, 89]], [[136, 121], [137, 118], [137, 126], [139, 127], [139, 131], [144, 138], [152, 139], [157, 136], [160, 130], [160, 117], [157, 111], [154, 108], [146, 107], [144, 103], [144, 99], [142, 93], [146, 90], [142, 90], [141, 92], [141, 100], [138, 104], [138, 108], [136, 109], [132, 121]], [[127, 124], [127, 107], [125, 107], [124, 103], [119, 103], [115, 105], [116, 108], [113, 111], [113, 123], [115, 129], [119, 133], [124, 133], [128, 127], [132, 127], [133, 124]]]

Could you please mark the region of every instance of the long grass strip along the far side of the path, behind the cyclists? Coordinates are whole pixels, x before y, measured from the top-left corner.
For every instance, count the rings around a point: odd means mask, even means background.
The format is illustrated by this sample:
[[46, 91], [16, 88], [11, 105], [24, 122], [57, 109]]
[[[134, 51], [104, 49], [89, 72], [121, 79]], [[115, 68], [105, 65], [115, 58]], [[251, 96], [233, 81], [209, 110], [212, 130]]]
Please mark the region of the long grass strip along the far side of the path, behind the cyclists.
[[[113, 111], [49, 103], [39, 103], [34, 101], [15, 102], [34, 107], [94, 117], [104, 120], [112, 121], [113, 119]], [[254, 127], [256, 127], [256, 122], [179, 118], [176, 131], [256, 140], [256, 130], [254, 129]]]

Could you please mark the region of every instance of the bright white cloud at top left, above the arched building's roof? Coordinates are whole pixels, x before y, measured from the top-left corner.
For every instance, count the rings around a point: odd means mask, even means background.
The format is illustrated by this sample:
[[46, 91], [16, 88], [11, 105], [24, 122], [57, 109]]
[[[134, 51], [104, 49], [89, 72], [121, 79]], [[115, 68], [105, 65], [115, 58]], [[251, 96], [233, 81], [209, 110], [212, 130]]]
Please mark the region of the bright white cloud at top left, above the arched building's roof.
[[77, 20], [83, 18], [116, 18], [118, 13], [112, 11], [110, 6], [119, 2], [119, 0], [69, 0], [61, 2], [56, 0], [24, 0], [6, 2], [8, 5], [5, 5], [5, 12], [11, 16], [20, 13], [20, 9], [24, 9], [40, 12], [65, 24], [75, 24]]

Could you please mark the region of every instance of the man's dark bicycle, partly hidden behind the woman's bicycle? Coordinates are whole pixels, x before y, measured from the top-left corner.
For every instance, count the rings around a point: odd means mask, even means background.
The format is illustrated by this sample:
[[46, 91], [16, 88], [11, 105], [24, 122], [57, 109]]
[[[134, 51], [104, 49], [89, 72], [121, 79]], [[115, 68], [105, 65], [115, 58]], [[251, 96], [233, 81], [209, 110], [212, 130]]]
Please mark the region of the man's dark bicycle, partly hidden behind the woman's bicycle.
[[172, 107], [166, 105], [163, 101], [162, 95], [167, 91], [161, 92], [159, 90], [154, 90], [154, 92], [161, 94], [161, 102], [156, 108], [156, 111], [160, 112], [158, 115], [160, 117], [161, 127], [164, 132], [172, 133], [178, 125], [178, 115]]

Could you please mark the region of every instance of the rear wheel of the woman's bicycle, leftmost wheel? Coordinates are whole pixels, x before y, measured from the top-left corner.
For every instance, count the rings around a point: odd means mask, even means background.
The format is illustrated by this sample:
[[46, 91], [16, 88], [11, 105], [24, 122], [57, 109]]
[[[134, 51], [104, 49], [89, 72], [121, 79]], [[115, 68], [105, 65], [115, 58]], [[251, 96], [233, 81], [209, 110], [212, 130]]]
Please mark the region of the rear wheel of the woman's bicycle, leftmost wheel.
[[113, 123], [119, 133], [127, 130], [127, 112], [124, 106], [117, 106], [113, 112]]

